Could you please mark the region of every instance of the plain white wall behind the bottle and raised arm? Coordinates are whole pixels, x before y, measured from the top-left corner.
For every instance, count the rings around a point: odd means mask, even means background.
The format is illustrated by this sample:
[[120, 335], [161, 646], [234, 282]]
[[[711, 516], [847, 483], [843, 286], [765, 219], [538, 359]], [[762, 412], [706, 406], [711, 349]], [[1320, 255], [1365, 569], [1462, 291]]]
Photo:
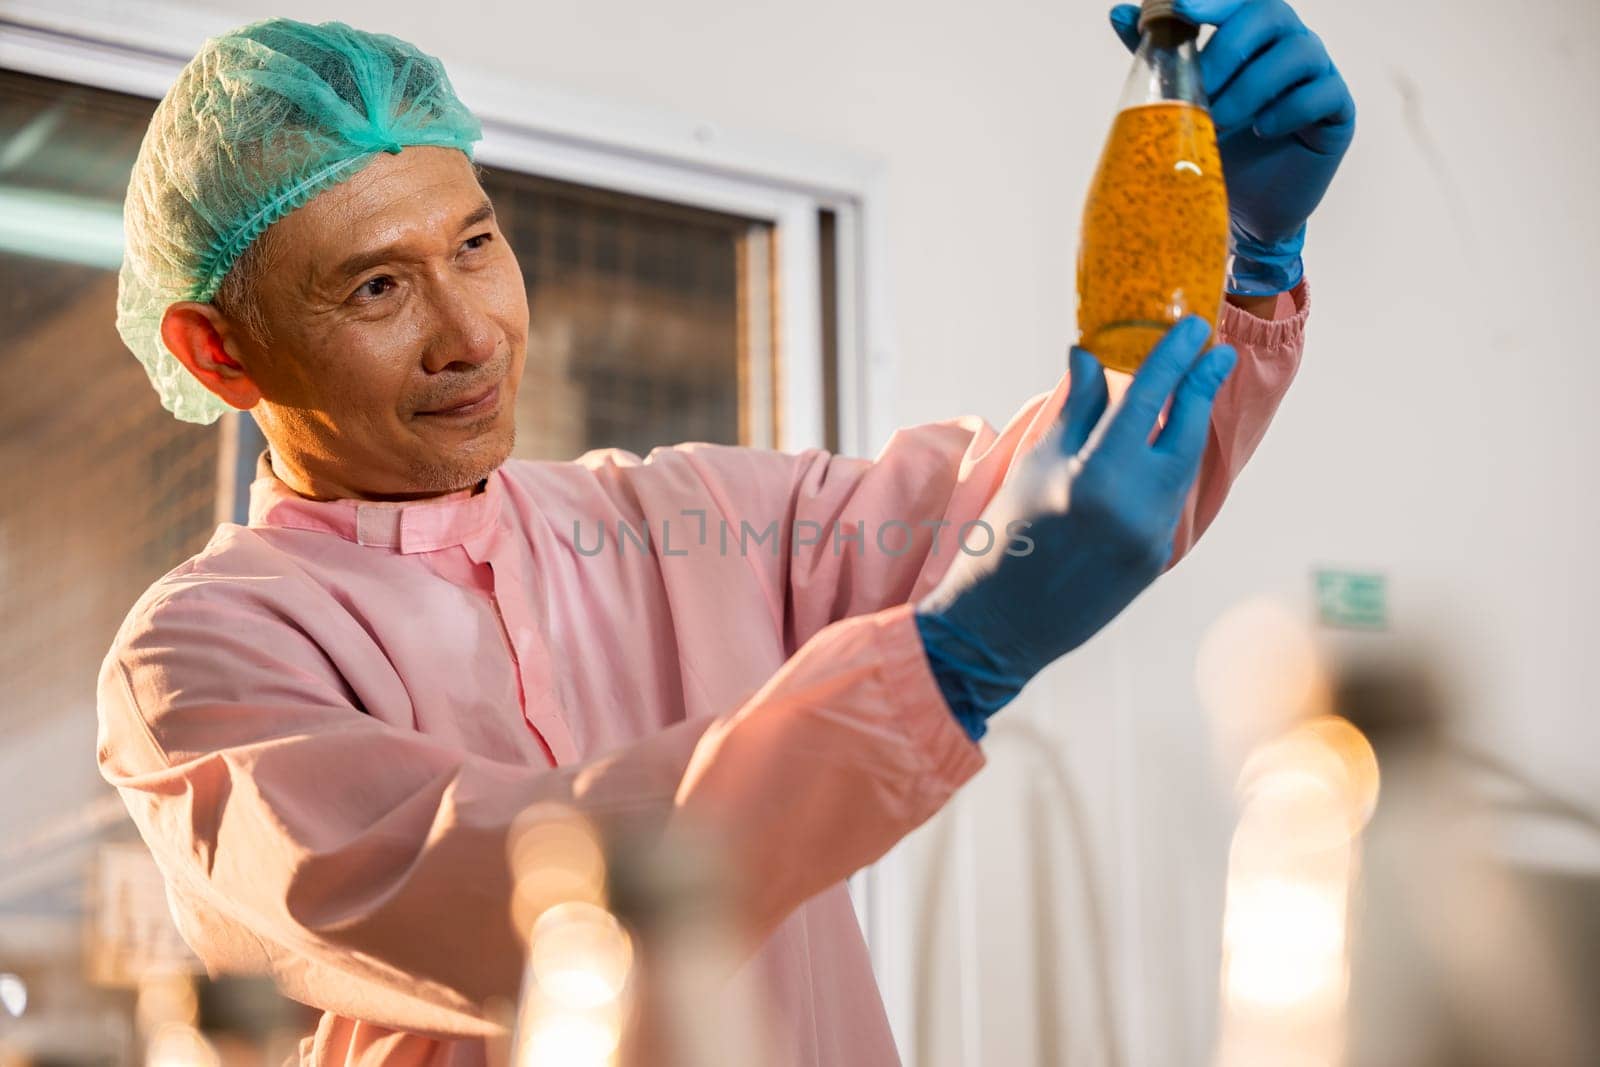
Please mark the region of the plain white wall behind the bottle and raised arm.
[[[1003, 419], [1074, 334], [1082, 194], [1126, 59], [1091, 2], [227, 0], [240, 19], [342, 18], [451, 64], [886, 165], [901, 421]], [[1317, 563], [1390, 576], [1402, 630], [1459, 653], [1485, 736], [1600, 811], [1597, 395], [1589, 309], [1600, 166], [1594, 0], [1304, 0], [1362, 126], [1309, 248], [1317, 312], [1278, 426], [1200, 550], [1110, 633], [1006, 712], [963, 801], [968, 870], [934, 825], [907, 851], [925, 893], [920, 1064], [1104, 1062], [1088, 899], [1107, 913], [1125, 1062], [1194, 1064], [1211, 1040], [1226, 774], [1208, 761], [1194, 649], [1229, 603], [1304, 601]], [[1018, 733], [1022, 725], [1045, 739]], [[1086, 849], [1040, 792], [1059, 758]], [[1032, 768], [1032, 769], [1029, 769]], [[1030, 920], [1029, 827], [1056, 929]], [[1043, 816], [1040, 816], [1043, 813]], [[1563, 846], [1565, 864], [1600, 861]], [[984, 926], [957, 973], [957, 907]], [[942, 902], [942, 904], [941, 904]], [[968, 905], [973, 901], [968, 899]], [[968, 912], [968, 917], [978, 912]], [[1034, 917], [1037, 918], [1037, 917]], [[920, 921], [920, 920], [918, 920]], [[963, 997], [963, 981], [966, 1000]], [[1040, 990], [1045, 990], [1040, 993]], [[976, 1024], [976, 1029], [973, 1029]]]

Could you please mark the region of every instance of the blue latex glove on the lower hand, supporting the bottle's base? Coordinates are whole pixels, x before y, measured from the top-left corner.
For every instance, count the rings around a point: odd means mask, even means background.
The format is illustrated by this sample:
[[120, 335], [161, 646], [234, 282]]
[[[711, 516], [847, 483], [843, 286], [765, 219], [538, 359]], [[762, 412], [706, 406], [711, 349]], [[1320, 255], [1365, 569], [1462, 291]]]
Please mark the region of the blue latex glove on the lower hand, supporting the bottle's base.
[[[1202, 355], [1208, 336], [1203, 318], [1178, 323], [1088, 450], [1106, 413], [1106, 373], [1074, 349], [1061, 421], [984, 510], [994, 550], [958, 555], [917, 605], [934, 678], [974, 741], [989, 715], [1117, 617], [1171, 558], [1211, 403], [1237, 358], [1227, 346]], [[1171, 414], [1152, 443], [1168, 397]]]

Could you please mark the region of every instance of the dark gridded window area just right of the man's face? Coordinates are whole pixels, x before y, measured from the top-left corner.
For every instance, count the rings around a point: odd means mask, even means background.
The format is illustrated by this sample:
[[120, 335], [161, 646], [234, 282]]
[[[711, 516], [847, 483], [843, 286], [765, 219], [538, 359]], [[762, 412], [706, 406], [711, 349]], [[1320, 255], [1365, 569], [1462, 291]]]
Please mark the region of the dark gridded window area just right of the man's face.
[[741, 267], [770, 227], [507, 171], [483, 184], [528, 280], [518, 456], [750, 438]]

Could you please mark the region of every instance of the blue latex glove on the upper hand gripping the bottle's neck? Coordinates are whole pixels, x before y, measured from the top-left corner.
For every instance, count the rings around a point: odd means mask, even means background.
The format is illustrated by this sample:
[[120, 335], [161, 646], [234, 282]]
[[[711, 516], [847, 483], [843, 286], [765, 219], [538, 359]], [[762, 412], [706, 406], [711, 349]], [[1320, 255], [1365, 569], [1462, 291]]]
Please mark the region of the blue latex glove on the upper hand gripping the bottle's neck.
[[[1355, 138], [1355, 101], [1322, 38], [1283, 0], [1178, 0], [1178, 14], [1216, 34], [1200, 77], [1216, 120], [1232, 216], [1229, 291], [1267, 296], [1299, 285], [1306, 221]], [[1112, 8], [1139, 46], [1139, 8]]]

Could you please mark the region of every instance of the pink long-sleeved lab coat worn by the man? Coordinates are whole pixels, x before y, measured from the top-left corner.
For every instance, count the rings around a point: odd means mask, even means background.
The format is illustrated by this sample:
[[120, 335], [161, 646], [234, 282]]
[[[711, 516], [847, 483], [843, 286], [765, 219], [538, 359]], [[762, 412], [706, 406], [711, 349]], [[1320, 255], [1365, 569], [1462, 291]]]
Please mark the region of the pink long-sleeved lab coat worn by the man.
[[[1240, 363], [1179, 552], [1288, 389], [1306, 314], [1304, 288], [1274, 322], [1226, 309]], [[1000, 434], [901, 430], [870, 462], [597, 451], [411, 504], [306, 501], [262, 456], [250, 525], [219, 526], [117, 633], [102, 774], [200, 958], [326, 1013], [302, 1062], [485, 1062], [480, 1005], [522, 966], [507, 827], [560, 800], [720, 830], [770, 931], [741, 981], [794, 1062], [894, 1064], [842, 880], [982, 765], [909, 601], [1064, 398]], [[618, 544], [619, 520], [651, 549]], [[918, 526], [938, 520], [955, 526]], [[773, 522], [776, 552], [755, 541]]]

